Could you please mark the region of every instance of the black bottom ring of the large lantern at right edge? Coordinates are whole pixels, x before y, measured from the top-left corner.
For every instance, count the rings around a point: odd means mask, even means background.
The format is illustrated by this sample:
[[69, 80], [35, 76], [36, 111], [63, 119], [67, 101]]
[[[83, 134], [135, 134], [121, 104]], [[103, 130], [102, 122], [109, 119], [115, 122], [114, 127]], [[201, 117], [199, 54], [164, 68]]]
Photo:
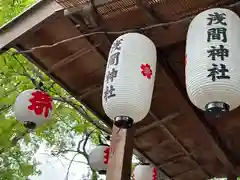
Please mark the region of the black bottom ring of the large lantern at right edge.
[[211, 117], [220, 117], [221, 114], [228, 112], [230, 106], [224, 102], [210, 102], [205, 106], [206, 115]]

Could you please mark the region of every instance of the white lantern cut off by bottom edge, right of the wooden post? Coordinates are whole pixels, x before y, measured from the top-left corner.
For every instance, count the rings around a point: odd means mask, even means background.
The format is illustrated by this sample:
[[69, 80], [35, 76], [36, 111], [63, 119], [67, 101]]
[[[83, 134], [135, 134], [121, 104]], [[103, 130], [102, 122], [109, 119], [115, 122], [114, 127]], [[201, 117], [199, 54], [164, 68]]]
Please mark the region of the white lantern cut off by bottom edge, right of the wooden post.
[[137, 165], [133, 171], [133, 180], [157, 180], [157, 169], [150, 165]]

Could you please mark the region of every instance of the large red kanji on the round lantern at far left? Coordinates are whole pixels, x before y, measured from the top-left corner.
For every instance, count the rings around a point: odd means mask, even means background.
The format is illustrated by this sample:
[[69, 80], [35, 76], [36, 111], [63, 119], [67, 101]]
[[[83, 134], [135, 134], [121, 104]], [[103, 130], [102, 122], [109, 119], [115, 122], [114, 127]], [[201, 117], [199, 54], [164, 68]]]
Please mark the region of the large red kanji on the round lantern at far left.
[[42, 91], [33, 92], [32, 96], [29, 99], [32, 104], [28, 106], [28, 109], [34, 111], [36, 115], [44, 113], [44, 117], [48, 117], [49, 110], [52, 110], [52, 98]]

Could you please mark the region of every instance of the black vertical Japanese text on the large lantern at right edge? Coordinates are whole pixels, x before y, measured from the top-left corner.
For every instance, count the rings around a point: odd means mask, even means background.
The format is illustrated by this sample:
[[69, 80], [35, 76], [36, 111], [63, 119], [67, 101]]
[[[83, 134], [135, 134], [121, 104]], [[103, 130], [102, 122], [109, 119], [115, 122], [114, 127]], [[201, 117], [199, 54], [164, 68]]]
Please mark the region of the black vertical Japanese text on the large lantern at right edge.
[[220, 12], [208, 14], [207, 18], [207, 42], [210, 45], [207, 54], [212, 61], [212, 66], [207, 69], [207, 77], [211, 78], [213, 82], [220, 79], [230, 79], [228, 67], [224, 63], [230, 53], [228, 49], [226, 18], [227, 15]]

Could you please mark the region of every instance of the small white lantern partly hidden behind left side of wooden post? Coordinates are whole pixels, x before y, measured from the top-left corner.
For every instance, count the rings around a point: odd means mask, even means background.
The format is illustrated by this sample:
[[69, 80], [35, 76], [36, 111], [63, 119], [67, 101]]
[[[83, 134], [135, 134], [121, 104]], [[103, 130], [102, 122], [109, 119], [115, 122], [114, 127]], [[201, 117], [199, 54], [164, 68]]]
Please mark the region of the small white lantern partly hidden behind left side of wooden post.
[[106, 174], [109, 159], [110, 147], [100, 145], [94, 148], [89, 154], [89, 165], [99, 174]]

